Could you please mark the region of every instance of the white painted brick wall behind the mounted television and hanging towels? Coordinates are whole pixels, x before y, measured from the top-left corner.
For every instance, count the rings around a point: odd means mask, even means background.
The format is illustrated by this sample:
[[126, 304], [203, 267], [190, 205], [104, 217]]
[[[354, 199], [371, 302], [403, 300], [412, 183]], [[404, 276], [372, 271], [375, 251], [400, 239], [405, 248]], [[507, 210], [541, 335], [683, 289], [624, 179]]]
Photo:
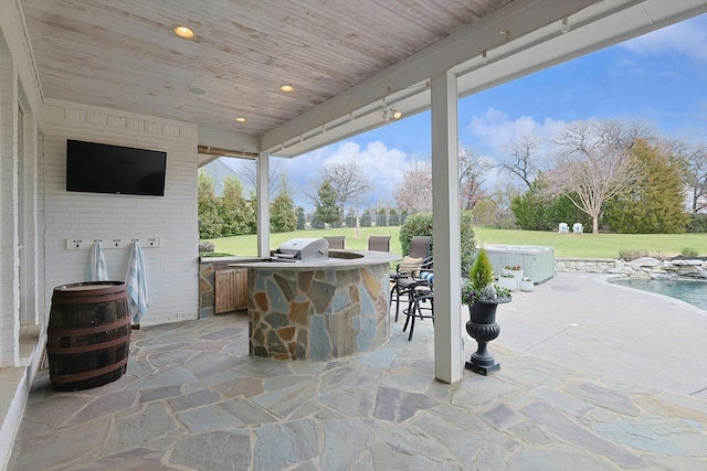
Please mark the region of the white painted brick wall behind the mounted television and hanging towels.
[[[45, 299], [53, 288], [84, 281], [88, 250], [66, 250], [67, 237], [158, 236], [144, 248], [149, 308], [143, 324], [198, 317], [196, 125], [49, 100], [42, 113]], [[167, 152], [165, 196], [65, 191], [66, 139]], [[110, 279], [125, 280], [129, 248], [107, 248]]]

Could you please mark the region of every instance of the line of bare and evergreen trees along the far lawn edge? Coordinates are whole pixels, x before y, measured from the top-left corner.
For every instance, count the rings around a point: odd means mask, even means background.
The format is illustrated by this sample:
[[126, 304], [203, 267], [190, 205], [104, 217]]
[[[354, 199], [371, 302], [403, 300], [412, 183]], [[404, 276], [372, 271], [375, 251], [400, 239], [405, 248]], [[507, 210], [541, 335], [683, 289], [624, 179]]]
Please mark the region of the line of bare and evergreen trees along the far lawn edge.
[[[707, 232], [707, 144], [668, 139], [641, 124], [577, 121], [542, 141], [525, 135], [494, 158], [460, 149], [460, 208], [475, 224], [553, 231], [581, 223], [593, 233]], [[239, 175], [254, 185], [252, 162]], [[494, 184], [488, 179], [495, 178]], [[431, 159], [413, 159], [393, 189], [392, 207], [361, 202], [371, 189], [355, 156], [325, 165], [307, 196], [314, 212], [295, 207], [287, 176], [271, 165], [271, 231], [403, 225], [432, 211]], [[199, 175], [201, 238], [254, 234], [255, 196], [239, 178]]]

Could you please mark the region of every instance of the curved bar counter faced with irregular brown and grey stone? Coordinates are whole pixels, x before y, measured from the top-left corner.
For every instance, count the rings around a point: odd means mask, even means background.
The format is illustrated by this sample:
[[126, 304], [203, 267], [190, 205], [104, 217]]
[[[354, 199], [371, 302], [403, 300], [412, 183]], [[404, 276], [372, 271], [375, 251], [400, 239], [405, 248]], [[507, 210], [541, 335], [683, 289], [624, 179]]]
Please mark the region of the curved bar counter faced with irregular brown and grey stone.
[[250, 353], [324, 362], [384, 345], [390, 334], [390, 263], [382, 251], [329, 250], [312, 261], [247, 268]]

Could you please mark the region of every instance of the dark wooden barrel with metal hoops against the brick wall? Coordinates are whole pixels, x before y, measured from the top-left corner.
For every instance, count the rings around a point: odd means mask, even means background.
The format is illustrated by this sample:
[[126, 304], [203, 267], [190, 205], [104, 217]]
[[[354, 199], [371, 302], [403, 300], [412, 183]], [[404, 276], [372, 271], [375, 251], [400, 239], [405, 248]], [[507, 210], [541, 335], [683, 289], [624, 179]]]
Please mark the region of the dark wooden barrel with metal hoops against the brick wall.
[[52, 387], [80, 390], [123, 376], [130, 346], [130, 310], [123, 281], [54, 288], [46, 331]]

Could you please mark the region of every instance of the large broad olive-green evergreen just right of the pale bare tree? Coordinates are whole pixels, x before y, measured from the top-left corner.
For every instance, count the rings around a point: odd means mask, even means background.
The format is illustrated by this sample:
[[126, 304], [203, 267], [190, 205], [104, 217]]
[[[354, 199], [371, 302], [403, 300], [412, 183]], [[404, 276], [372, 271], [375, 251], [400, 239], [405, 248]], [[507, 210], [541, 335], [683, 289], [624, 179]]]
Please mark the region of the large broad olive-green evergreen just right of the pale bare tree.
[[685, 213], [680, 168], [659, 148], [637, 140], [631, 153], [642, 164], [639, 176], [606, 205], [606, 222], [623, 234], [684, 233]]

